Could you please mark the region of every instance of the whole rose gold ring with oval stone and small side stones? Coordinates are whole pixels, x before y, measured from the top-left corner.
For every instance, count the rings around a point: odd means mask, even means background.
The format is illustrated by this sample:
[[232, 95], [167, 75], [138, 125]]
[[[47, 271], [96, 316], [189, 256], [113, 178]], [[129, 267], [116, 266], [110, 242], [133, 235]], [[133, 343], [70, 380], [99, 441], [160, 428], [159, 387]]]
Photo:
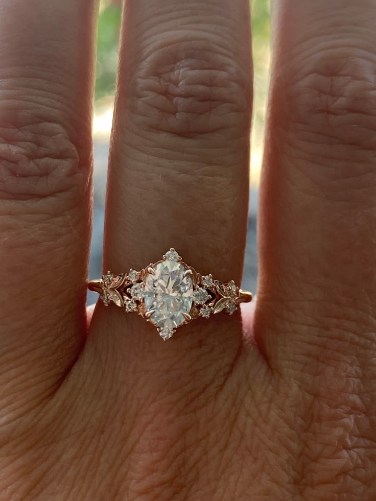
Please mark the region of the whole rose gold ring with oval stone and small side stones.
[[233, 280], [221, 282], [197, 273], [173, 248], [142, 270], [120, 275], [108, 271], [101, 280], [90, 281], [88, 288], [100, 294], [105, 306], [115, 304], [144, 317], [165, 341], [181, 325], [220, 312], [232, 315], [238, 304], [252, 300], [252, 294]]

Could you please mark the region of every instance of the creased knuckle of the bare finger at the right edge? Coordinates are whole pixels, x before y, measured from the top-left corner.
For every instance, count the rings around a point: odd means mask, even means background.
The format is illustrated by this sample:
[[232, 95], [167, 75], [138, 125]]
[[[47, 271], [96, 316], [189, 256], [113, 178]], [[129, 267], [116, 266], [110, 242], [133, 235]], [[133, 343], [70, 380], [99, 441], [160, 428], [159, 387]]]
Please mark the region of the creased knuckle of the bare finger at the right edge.
[[[346, 158], [350, 147], [360, 154], [376, 149], [376, 87], [374, 56], [351, 49], [325, 49], [298, 69], [291, 66], [275, 83], [286, 96], [279, 105], [284, 119], [290, 116], [291, 132], [304, 144], [330, 144], [335, 155]], [[290, 83], [290, 86], [288, 85]], [[282, 86], [282, 87], [281, 87]], [[281, 109], [282, 107], [282, 109]], [[325, 151], [325, 155], [331, 152]]]

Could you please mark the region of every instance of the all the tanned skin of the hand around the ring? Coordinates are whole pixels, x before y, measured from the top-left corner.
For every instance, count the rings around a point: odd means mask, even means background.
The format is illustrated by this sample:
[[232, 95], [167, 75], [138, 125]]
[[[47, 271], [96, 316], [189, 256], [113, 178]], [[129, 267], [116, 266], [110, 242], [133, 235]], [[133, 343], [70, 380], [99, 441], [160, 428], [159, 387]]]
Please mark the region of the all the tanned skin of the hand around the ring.
[[[257, 301], [166, 343], [86, 314], [96, 17], [0, 0], [0, 499], [376, 499], [373, 0], [273, 3]], [[128, 0], [105, 270], [174, 246], [240, 282], [249, 26]]]

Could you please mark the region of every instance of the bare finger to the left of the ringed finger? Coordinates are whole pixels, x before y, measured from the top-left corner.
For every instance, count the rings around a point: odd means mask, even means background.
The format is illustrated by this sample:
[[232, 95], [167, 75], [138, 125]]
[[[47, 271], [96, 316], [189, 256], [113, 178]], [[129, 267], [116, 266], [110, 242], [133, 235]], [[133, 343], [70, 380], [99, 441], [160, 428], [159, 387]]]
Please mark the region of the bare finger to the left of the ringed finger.
[[0, 380], [17, 408], [85, 335], [95, 11], [0, 1]]

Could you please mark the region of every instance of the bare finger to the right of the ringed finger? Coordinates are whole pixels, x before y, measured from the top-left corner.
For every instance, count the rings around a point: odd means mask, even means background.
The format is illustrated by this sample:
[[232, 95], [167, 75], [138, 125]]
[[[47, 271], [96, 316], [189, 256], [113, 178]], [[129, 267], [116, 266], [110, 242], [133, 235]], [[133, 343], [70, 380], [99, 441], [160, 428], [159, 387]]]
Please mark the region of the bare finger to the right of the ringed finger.
[[276, 3], [255, 328], [274, 364], [370, 347], [375, 21], [369, 0]]

